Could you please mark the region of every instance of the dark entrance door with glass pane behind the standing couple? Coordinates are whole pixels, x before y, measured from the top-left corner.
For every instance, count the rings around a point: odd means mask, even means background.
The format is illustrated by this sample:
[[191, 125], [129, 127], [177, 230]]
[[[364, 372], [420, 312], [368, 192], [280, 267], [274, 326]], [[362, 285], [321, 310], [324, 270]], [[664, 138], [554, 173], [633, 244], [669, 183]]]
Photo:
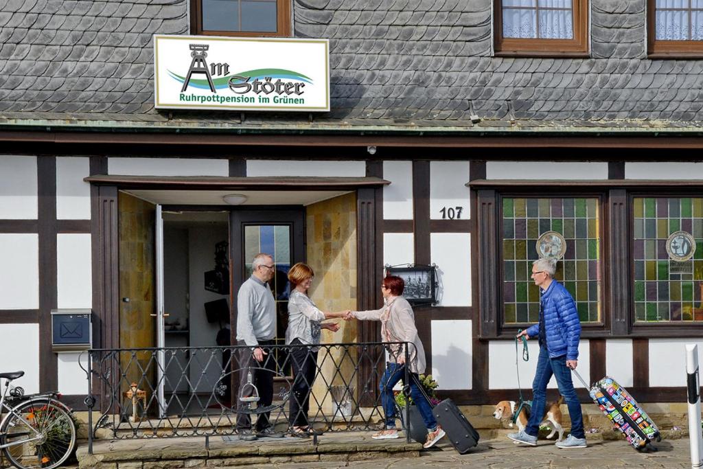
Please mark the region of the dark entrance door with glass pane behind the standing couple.
[[[288, 271], [296, 262], [305, 261], [305, 210], [303, 207], [287, 210], [235, 210], [231, 212], [231, 258], [232, 304], [231, 316], [232, 343], [236, 343], [237, 293], [240, 286], [252, 274], [252, 259], [259, 252], [273, 257], [276, 274], [271, 281], [271, 290], [276, 299], [276, 343], [285, 342], [285, 329], [288, 327], [288, 295], [290, 284]], [[283, 364], [284, 357], [276, 357]], [[279, 369], [278, 375], [288, 371]]]

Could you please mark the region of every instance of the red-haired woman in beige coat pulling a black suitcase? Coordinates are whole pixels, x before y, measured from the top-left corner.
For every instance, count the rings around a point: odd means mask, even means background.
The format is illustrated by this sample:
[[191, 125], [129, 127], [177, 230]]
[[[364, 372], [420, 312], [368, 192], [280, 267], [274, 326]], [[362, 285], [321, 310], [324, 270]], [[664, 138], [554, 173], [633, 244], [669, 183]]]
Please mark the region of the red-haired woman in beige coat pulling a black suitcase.
[[[380, 321], [381, 340], [383, 342], [407, 342], [408, 363], [406, 364], [406, 350], [402, 344], [389, 344], [387, 349], [391, 361], [386, 364], [380, 383], [381, 404], [386, 418], [386, 428], [373, 435], [373, 439], [397, 438], [398, 430], [395, 427], [396, 406], [393, 387], [404, 377], [404, 366], [409, 367], [409, 372], [418, 378], [418, 374], [425, 373], [425, 349], [420, 342], [418, 328], [415, 327], [413, 308], [403, 295], [405, 282], [396, 276], [387, 276], [383, 279], [381, 293], [385, 305], [374, 311], [352, 311], [346, 319], [352, 317], [361, 321]], [[444, 437], [444, 430], [437, 425], [437, 420], [432, 415], [432, 405], [418, 387], [419, 380], [411, 379], [410, 391], [415, 405], [418, 406], [420, 415], [427, 427], [427, 442], [423, 445], [430, 448]]]

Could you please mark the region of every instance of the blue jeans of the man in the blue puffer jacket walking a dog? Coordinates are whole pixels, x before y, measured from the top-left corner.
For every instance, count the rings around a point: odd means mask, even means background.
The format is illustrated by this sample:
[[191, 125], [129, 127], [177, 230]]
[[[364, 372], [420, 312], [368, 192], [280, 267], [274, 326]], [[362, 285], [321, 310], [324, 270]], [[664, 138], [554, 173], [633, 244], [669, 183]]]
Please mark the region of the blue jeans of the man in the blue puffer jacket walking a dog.
[[579, 402], [579, 397], [576, 396], [571, 374], [571, 370], [567, 368], [566, 355], [550, 359], [547, 347], [540, 347], [537, 371], [532, 383], [532, 409], [529, 423], [527, 423], [527, 428], [525, 428], [527, 435], [536, 437], [539, 432], [539, 424], [542, 423], [544, 407], [546, 406], [547, 385], [552, 375], [554, 375], [557, 378], [559, 392], [564, 397], [564, 401], [569, 408], [569, 417], [572, 420], [571, 434], [576, 438], [586, 437], [583, 433], [581, 402]]

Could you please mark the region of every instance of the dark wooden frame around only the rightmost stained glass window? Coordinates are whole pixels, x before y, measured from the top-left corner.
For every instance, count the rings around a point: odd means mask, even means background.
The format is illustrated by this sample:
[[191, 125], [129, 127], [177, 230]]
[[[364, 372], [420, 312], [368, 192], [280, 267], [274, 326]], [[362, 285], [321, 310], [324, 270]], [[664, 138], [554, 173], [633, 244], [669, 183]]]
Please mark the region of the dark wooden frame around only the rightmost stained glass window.
[[[629, 267], [630, 267], [630, 291], [634, 293], [635, 290], [635, 217], [633, 207], [635, 206], [636, 198], [701, 198], [699, 192], [694, 191], [662, 191], [660, 193], [652, 193], [652, 191], [647, 191], [645, 189], [628, 191], [628, 246], [629, 246]], [[638, 322], [635, 314], [635, 295], [629, 295], [629, 314], [630, 314], [630, 326], [631, 333], [633, 336], [649, 337], [654, 334], [658, 337], [685, 337], [692, 335], [692, 330], [695, 331], [693, 335], [699, 335], [703, 331], [703, 321], [662, 321], [656, 323]]]

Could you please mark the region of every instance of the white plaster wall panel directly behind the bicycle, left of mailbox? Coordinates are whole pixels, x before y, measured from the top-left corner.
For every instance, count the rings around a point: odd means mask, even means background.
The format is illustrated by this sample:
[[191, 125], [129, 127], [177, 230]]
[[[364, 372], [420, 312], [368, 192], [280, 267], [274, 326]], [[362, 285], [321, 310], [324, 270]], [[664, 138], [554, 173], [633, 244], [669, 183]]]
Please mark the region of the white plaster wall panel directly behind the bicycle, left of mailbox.
[[39, 392], [39, 324], [0, 324], [0, 338], [2, 371], [24, 371], [13, 385]]

